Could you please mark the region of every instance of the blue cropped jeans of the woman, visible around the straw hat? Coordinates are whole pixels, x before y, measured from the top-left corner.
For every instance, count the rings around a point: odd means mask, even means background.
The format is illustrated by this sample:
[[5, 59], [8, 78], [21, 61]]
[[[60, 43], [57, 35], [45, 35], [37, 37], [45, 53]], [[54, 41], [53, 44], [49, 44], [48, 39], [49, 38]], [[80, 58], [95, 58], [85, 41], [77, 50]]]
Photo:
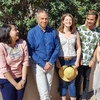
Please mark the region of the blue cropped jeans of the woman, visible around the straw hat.
[[[76, 57], [70, 61], [59, 58], [59, 61], [60, 61], [61, 66], [74, 65], [74, 63], [76, 61]], [[59, 85], [60, 85], [59, 91], [60, 91], [61, 96], [66, 96], [66, 92], [67, 92], [67, 88], [68, 88], [69, 95], [71, 97], [76, 97], [75, 79], [72, 80], [71, 82], [65, 82], [59, 77]]]

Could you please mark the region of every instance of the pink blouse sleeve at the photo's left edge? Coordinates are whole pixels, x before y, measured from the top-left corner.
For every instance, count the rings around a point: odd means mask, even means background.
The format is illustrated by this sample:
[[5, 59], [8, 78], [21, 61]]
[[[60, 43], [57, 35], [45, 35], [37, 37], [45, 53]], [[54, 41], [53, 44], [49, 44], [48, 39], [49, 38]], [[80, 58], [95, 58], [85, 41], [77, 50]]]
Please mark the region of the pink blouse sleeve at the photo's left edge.
[[5, 52], [5, 48], [0, 43], [0, 72], [2, 74], [9, 71], [6, 63]]

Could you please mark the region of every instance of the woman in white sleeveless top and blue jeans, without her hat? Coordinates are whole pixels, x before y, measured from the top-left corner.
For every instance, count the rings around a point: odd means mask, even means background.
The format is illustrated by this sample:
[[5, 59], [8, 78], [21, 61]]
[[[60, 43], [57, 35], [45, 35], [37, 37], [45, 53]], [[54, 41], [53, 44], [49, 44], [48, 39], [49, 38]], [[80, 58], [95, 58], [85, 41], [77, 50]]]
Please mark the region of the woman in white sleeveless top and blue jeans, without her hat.
[[[61, 25], [58, 31], [61, 48], [56, 61], [56, 67], [59, 69], [63, 65], [75, 65], [74, 68], [77, 69], [80, 61], [81, 45], [79, 34], [76, 31], [75, 21], [71, 14], [66, 13], [62, 15]], [[66, 100], [67, 87], [70, 99], [76, 99], [75, 79], [65, 82], [59, 77], [59, 85], [62, 100]]]

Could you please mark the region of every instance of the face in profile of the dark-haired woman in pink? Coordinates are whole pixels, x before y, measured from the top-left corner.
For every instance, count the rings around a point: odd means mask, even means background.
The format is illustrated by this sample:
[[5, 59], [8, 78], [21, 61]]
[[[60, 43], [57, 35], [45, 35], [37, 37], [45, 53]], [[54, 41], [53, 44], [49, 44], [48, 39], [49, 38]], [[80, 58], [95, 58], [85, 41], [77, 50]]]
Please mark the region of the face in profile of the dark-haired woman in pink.
[[19, 31], [16, 29], [14, 25], [10, 25], [11, 30], [9, 36], [11, 37], [12, 41], [16, 41], [19, 39]]

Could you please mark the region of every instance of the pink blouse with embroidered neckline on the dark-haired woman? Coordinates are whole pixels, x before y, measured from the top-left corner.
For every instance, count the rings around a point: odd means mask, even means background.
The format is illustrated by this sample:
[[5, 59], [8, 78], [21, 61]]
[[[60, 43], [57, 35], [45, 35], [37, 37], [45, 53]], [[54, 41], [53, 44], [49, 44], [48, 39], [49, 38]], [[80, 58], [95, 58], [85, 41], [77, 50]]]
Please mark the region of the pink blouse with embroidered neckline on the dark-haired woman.
[[22, 76], [22, 67], [29, 66], [27, 43], [20, 39], [14, 48], [0, 43], [0, 78], [5, 79], [4, 73], [10, 72], [13, 78]]

